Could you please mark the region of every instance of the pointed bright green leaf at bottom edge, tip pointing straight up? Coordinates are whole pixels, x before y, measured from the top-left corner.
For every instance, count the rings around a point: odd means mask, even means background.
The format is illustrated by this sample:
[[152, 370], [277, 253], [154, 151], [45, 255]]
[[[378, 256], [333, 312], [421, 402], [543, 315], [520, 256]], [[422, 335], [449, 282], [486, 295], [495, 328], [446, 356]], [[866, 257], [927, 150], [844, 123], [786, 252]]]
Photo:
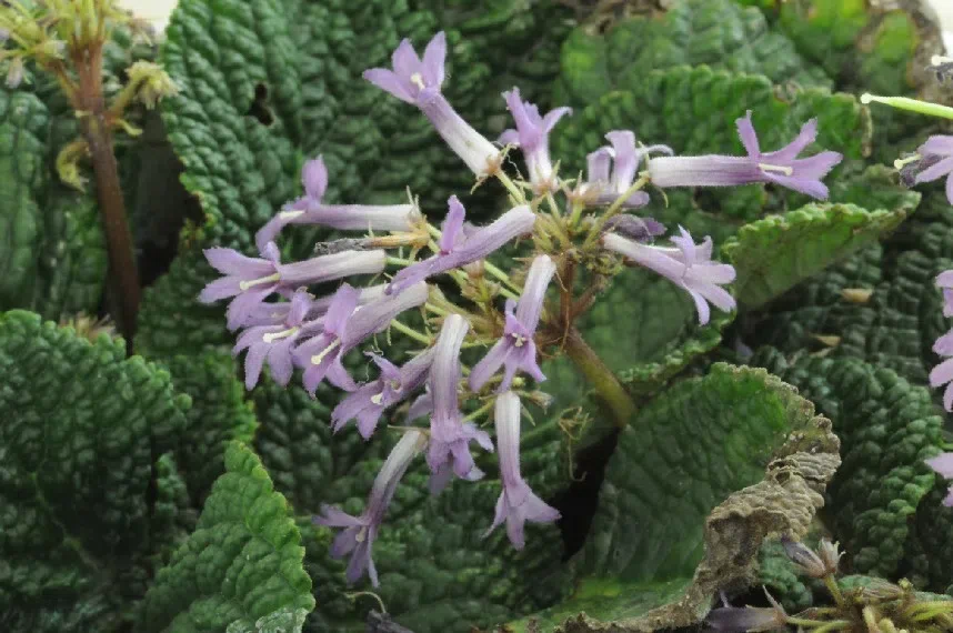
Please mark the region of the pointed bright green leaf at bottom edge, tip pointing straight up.
[[300, 631], [314, 609], [301, 534], [254, 453], [225, 453], [195, 531], [159, 571], [142, 631]]

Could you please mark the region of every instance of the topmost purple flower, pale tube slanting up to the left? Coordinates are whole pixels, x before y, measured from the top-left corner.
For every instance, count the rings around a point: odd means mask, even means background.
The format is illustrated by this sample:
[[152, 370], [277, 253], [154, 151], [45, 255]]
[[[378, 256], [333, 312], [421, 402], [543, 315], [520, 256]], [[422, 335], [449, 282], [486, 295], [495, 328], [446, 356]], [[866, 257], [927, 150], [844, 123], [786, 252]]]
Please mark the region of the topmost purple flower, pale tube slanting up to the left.
[[483, 177], [499, 169], [501, 152], [470, 127], [440, 92], [445, 58], [447, 38], [441, 31], [427, 44], [423, 60], [410, 41], [403, 40], [391, 58], [393, 70], [372, 68], [365, 70], [363, 77], [401, 101], [420, 108], [450, 149], [473, 173]]

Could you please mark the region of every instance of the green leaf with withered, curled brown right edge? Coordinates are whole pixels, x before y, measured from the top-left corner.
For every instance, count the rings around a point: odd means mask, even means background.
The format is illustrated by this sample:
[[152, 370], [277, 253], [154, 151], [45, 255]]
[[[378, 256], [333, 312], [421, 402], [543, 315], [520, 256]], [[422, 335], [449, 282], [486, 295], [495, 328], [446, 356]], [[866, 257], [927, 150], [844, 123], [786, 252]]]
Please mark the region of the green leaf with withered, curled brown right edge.
[[620, 434], [579, 561], [589, 575], [538, 615], [572, 614], [565, 631], [696, 624], [766, 535], [807, 532], [836, 451], [830, 422], [763, 370], [719, 363], [675, 384]]

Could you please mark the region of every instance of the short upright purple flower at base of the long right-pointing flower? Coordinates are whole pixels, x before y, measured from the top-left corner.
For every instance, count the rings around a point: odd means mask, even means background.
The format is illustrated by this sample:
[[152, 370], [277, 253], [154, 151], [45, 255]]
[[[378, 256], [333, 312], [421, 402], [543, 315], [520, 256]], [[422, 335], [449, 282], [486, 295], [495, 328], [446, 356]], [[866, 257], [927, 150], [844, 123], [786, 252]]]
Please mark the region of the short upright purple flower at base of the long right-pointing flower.
[[[640, 148], [635, 144], [635, 134], [629, 130], [613, 130], [605, 134], [610, 147], [599, 148], [586, 157], [588, 182], [584, 190], [594, 194], [595, 204], [612, 204], [635, 182], [639, 165], [652, 153], [671, 154], [666, 145]], [[644, 207], [649, 194], [634, 191], [622, 203], [623, 208]]]

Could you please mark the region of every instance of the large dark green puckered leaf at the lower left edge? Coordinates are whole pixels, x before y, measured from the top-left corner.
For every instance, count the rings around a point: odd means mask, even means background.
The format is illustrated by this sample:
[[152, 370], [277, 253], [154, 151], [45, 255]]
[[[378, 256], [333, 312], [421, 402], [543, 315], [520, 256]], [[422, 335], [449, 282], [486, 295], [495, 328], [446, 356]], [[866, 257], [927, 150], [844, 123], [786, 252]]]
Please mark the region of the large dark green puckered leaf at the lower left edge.
[[[180, 520], [153, 469], [185, 425], [169, 374], [38, 314], [0, 313], [0, 611], [12, 631], [117, 631]], [[167, 464], [168, 465], [168, 464]], [[153, 505], [161, 504], [161, 506]], [[173, 503], [174, 505], [174, 503]]]

